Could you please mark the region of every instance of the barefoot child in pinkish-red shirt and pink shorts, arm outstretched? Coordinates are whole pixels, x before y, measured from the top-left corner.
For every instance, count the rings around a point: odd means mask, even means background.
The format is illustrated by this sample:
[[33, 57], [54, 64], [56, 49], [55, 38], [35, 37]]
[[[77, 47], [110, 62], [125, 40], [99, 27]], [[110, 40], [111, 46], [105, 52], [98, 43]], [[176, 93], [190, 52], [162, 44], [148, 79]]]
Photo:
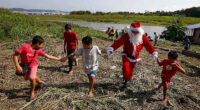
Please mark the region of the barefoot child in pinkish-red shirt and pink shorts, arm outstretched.
[[21, 46], [17, 52], [13, 55], [13, 61], [16, 66], [16, 72], [22, 73], [23, 69], [19, 65], [18, 62], [18, 56], [21, 57], [21, 64], [29, 64], [28, 72], [25, 74], [24, 79], [30, 80], [31, 83], [31, 94], [30, 99], [33, 99], [35, 97], [35, 85], [36, 82], [40, 83], [40, 85], [44, 84], [43, 81], [41, 81], [37, 77], [37, 57], [38, 56], [44, 56], [48, 59], [52, 60], [60, 60], [60, 58], [56, 58], [50, 55], [47, 55], [45, 52], [42, 51], [42, 47], [44, 46], [44, 39], [40, 36], [35, 36], [32, 40], [32, 44], [25, 44]]

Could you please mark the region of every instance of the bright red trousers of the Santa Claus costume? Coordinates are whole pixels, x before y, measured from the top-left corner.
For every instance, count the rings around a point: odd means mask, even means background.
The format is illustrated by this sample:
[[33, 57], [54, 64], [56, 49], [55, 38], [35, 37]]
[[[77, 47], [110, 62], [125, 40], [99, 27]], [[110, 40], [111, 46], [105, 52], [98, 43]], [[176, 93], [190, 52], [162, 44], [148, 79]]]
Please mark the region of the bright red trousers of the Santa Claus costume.
[[133, 77], [133, 72], [137, 62], [130, 62], [126, 56], [122, 56], [123, 61], [123, 79], [130, 80]]

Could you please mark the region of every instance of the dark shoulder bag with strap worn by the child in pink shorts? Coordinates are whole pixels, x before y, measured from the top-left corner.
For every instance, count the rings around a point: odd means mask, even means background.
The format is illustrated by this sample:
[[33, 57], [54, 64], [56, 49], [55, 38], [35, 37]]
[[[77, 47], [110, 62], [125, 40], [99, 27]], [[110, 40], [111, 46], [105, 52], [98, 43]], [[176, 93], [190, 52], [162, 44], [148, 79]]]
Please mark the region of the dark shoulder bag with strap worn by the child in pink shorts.
[[[35, 53], [34, 53], [34, 56], [33, 56], [33, 58], [35, 57], [35, 55], [36, 55], [36, 52], [37, 52], [37, 50], [35, 50]], [[30, 61], [30, 63], [28, 63], [28, 64], [22, 64], [22, 63], [20, 63], [19, 65], [22, 67], [22, 73], [15, 73], [17, 76], [25, 76], [26, 75], [26, 73], [29, 71], [28, 70], [28, 67], [31, 65], [31, 63], [32, 63], [32, 61], [33, 61], [33, 59]]]

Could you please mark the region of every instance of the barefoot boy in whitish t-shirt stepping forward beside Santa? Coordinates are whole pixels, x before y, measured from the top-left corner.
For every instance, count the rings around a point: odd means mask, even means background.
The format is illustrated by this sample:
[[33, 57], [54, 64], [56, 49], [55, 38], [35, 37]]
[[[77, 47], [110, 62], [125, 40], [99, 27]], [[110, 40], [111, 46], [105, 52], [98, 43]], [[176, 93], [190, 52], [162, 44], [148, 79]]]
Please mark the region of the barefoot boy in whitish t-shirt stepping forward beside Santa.
[[86, 36], [82, 39], [82, 45], [83, 48], [80, 48], [75, 53], [72, 53], [62, 58], [62, 61], [64, 62], [67, 60], [67, 58], [72, 57], [74, 55], [82, 56], [83, 68], [85, 73], [88, 75], [90, 83], [88, 97], [92, 98], [92, 89], [94, 86], [94, 80], [98, 69], [98, 54], [101, 54], [101, 50], [99, 50], [99, 48], [96, 45], [92, 45], [92, 38], [90, 36]]

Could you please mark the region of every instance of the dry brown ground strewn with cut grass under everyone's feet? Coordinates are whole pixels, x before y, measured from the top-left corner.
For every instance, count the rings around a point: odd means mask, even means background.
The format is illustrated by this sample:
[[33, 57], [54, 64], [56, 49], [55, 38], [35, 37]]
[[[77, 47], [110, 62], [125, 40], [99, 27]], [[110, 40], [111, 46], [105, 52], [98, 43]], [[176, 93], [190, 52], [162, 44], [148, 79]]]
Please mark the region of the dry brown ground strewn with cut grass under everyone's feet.
[[[168, 104], [161, 103], [162, 93], [154, 89], [161, 82], [159, 67], [145, 49], [142, 61], [137, 63], [134, 78], [125, 91], [120, 91], [122, 83], [120, 49], [114, 55], [99, 56], [100, 67], [94, 87], [95, 97], [88, 99], [88, 79], [80, 64], [74, 67], [74, 74], [68, 75], [67, 62], [39, 58], [38, 76], [47, 85], [36, 91], [36, 98], [29, 101], [29, 82], [16, 76], [12, 62], [13, 50], [22, 42], [0, 44], [0, 108], [1, 109], [200, 109], [200, 60], [180, 55], [179, 62], [189, 71], [188, 75], [177, 74], [169, 84]], [[111, 42], [95, 39], [100, 49]], [[63, 56], [62, 41], [50, 39], [43, 50], [55, 56]], [[158, 50], [161, 59], [167, 52]], [[115, 65], [115, 70], [109, 69]], [[194, 66], [195, 65], [195, 66]]]

